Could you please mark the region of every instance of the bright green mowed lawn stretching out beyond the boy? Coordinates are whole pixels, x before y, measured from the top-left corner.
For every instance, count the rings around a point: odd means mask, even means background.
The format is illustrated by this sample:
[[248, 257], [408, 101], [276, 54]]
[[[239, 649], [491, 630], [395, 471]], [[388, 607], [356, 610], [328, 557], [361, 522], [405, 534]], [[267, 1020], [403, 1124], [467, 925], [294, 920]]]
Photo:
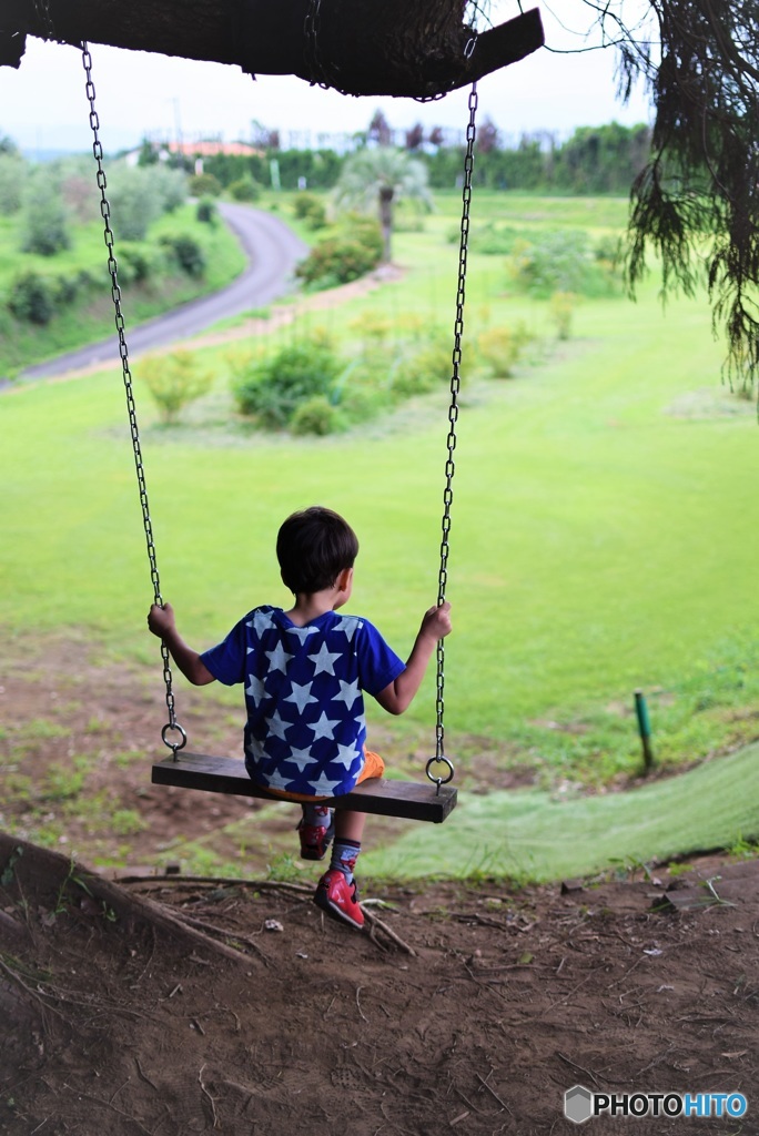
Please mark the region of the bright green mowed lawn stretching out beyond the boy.
[[[556, 199], [491, 197], [476, 216], [506, 224], [576, 227], [584, 217], [601, 232], [624, 218], [624, 202], [574, 203], [565, 219]], [[397, 235], [400, 284], [318, 321], [343, 334], [381, 311], [452, 326], [454, 195], [443, 207], [424, 232]], [[636, 687], [650, 695], [661, 762], [752, 740], [759, 435], [751, 407], [720, 385], [706, 299], [662, 311], [651, 282], [635, 304], [585, 301], [573, 340], [556, 344], [545, 303], [514, 294], [503, 258], [472, 256], [467, 298], [468, 335], [524, 320], [543, 346], [514, 379], [478, 383], [467, 381], [465, 342], [449, 563], [452, 754], [475, 770], [484, 738], [503, 766], [531, 766], [551, 785], [633, 772]], [[287, 602], [276, 531], [318, 501], [359, 534], [351, 607], [408, 652], [436, 595], [444, 395], [352, 434], [272, 438], [219, 426], [225, 350], [205, 356], [218, 389], [191, 426], [159, 428], [137, 386], [162, 592], [186, 637], [210, 645], [256, 603]], [[152, 660], [160, 683], [118, 371], [8, 393], [0, 415], [0, 623], [10, 634], [84, 626], [111, 654]], [[181, 702], [181, 678], [177, 690]], [[433, 722], [428, 676], [390, 724], [399, 752], [420, 729], [432, 738]]]

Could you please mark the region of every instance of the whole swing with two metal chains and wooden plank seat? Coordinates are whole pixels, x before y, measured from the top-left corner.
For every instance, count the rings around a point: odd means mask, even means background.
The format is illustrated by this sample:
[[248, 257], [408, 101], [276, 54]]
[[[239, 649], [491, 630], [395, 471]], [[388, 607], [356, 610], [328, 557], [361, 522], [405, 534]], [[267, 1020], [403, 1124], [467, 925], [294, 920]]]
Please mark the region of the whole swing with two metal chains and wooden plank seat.
[[[103, 151], [100, 142], [100, 123], [95, 110], [95, 91], [92, 82], [92, 57], [87, 43], [82, 44], [82, 59], [86, 75], [86, 97], [90, 103], [90, 126], [93, 134], [92, 152], [98, 166], [97, 182], [100, 190], [100, 211], [103, 218], [106, 247], [108, 249], [108, 272], [111, 278], [111, 299], [114, 302], [116, 331], [118, 334], [119, 356], [126, 406], [130, 420], [130, 433], [134, 452], [134, 463], [142, 507], [142, 521], [150, 561], [150, 578], [153, 584], [155, 602], [162, 607], [160, 580], [156, 558], [156, 546], [152, 535], [152, 521], [148, 507], [148, 491], [142, 450], [137, 431], [136, 408], [134, 402], [132, 373], [125, 336], [125, 323], [122, 311], [120, 287], [117, 277], [117, 262], [114, 254], [114, 234], [110, 226], [110, 206], [106, 197], [107, 181], [103, 168]], [[475, 115], [477, 108], [477, 85], [473, 84], [469, 94], [469, 123], [467, 126], [467, 148], [462, 189], [462, 211], [459, 245], [458, 287], [456, 295], [456, 321], [453, 327], [452, 374], [450, 384], [450, 406], [448, 410], [449, 432], [447, 438], [448, 458], [445, 461], [445, 487], [443, 492], [442, 541], [440, 549], [440, 571], [437, 603], [445, 600], [448, 582], [449, 535], [451, 528], [451, 503], [453, 500], [453, 451], [456, 449], [456, 425], [459, 415], [458, 395], [460, 390], [461, 339], [464, 334], [464, 304], [466, 286], [466, 268], [469, 234], [469, 206], [472, 201], [472, 170], [474, 165]], [[355, 809], [360, 812], [376, 813], [385, 817], [402, 817], [409, 820], [428, 820], [440, 824], [445, 820], [457, 803], [457, 790], [449, 786], [453, 778], [453, 765], [444, 755], [444, 642], [440, 640], [436, 648], [436, 726], [435, 754], [429, 758], [425, 774], [429, 784], [402, 782], [385, 777], [367, 778], [350, 793], [330, 797], [328, 803], [335, 809]], [[176, 719], [174, 693], [172, 688], [172, 668], [168, 649], [161, 642], [164, 662], [164, 683], [166, 687], [166, 705], [168, 722], [161, 730], [164, 744], [172, 750], [172, 755], [156, 761], [152, 766], [151, 782], [155, 785], [173, 785], [178, 788], [199, 790], [207, 793], [225, 793], [236, 796], [250, 796], [261, 800], [278, 801], [283, 797], [268, 793], [256, 785], [248, 776], [244, 762], [239, 758], [210, 757], [203, 753], [182, 753], [187, 736]], [[175, 735], [178, 740], [172, 740]], [[437, 767], [437, 772], [433, 767]], [[441, 770], [444, 767], [444, 771]], [[292, 803], [292, 802], [286, 802]]]

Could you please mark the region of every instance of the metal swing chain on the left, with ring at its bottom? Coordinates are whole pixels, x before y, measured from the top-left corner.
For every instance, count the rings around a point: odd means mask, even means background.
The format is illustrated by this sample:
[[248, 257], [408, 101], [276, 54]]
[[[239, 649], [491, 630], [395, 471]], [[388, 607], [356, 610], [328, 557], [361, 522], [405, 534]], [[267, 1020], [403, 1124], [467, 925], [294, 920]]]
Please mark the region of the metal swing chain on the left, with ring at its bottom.
[[[160, 594], [160, 579], [158, 576], [158, 561], [156, 559], [156, 545], [153, 543], [152, 533], [152, 521], [150, 519], [150, 510], [148, 508], [148, 487], [145, 484], [145, 473], [144, 466], [142, 463], [142, 448], [140, 445], [140, 432], [137, 429], [137, 416], [136, 407], [134, 402], [134, 391], [132, 385], [132, 371], [130, 369], [130, 356], [126, 345], [126, 334], [125, 334], [125, 321], [124, 312], [122, 309], [122, 290], [118, 284], [118, 266], [116, 262], [116, 257], [114, 254], [114, 231], [110, 226], [110, 203], [106, 197], [107, 181], [106, 170], [103, 168], [103, 150], [102, 143], [100, 142], [100, 119], [98, 117], [98, 111], [95, 109], [95, 89], [92, 82], [92, 56], [90, 55], [90, 48], [86, 42], [82, 43], [82, 64], [84, 66], [84, 73], [86, 75], [86, 98], [90, 103], [90, 128], [92, 131], [93, 143], [92, 153], [98, 166], [98, 189], [100, 190], [100, 215], [103, 220], [103, 235], [106, 240], [106, 248], [108, 250], [108, 273], [110, 275], [111, 289], [110, 295], [114, 302], [114, 312], [116, 321], [116, 332], [118, 334], [118, 352], [122, 359], [122, 374], [124, 376], [124, 391], [126, 394], [126, 407], [130, 416], [130, 434], [132, 437], [132, 450], [134, 452], [134, 465], [137, 475], [137, 486], [140, 490], [140, 506], [142, 508], [142, 524], [145, 533], [145, 541], [148, 545], [148, 560], [150, 561], [150, 579], [153, 586], [153, 595], [156, 603], [164, 605], [164, 600]], [[161, 659], [164, 661], [164, 684], [166, 686], [166, 707], [168, 709], [168, 722], [164, 726], [161, 732], [161, 738], [164, 745], [172, 750], [174, 754], [174, 760], [177, 760], [177, 753], [180, 750], [184, 749], [187, 744], [187, 735], [183, 727], [176, 720], [176, 713], [174, 708], [174, 691], [172, 688], [172, 667], [169, 653], [166, 644], [161, 641], [160, 645]], [[176, 732], [180, 735], [178, 742], [169, 741], [168, 735]]]

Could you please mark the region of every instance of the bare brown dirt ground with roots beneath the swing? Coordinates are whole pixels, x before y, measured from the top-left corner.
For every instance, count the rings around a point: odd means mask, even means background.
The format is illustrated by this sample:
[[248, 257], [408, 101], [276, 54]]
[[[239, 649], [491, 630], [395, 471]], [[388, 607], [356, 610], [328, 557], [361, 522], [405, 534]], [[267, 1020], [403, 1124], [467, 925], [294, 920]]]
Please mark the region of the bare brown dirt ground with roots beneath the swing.
[[[582, 1085], [748, 1097], [742, 1119], [587, 1131], [759, 1134], [757, 861], [366, 880], [359, 934], [311, 903], [314, 866], [270, 878], [286, 809], [242, 852], [218, 834], [257, 803], [149, 784], [161, 691], [95, 655], [12, 640], [0, 674], [0, 1131], [549, 1136], [582, 1130]], [[235, 752], [239, 716], [191, 693], [191, 730]], [[187, 877], [189, 833], [244, 855], [244, 882]]]

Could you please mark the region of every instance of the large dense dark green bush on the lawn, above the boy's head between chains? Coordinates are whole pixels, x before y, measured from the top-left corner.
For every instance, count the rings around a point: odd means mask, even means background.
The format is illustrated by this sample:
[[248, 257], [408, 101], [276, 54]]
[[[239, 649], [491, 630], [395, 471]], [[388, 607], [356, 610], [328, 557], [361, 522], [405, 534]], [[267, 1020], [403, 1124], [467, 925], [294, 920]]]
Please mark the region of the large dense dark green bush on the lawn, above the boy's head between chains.
[[241, 414], [267, 429], [282, 429], [299, 407], [328, 398], [341, 367], [328, 339], [311, 335], [253, 362], [234, 383], [234, 399]]

